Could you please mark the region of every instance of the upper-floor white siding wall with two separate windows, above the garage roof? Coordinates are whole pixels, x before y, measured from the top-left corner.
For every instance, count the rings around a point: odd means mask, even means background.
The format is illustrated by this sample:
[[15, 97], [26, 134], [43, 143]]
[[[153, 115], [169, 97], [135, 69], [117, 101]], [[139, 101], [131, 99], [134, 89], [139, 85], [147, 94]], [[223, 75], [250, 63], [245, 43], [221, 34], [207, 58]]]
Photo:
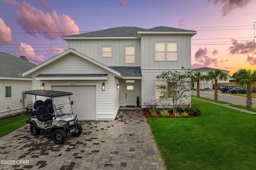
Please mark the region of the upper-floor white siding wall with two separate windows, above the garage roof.
[[[135, 63], [125, 63], [125, 46], [135, 46]], [[102, 57], [102, 46], [112, 46], [112, 57]], [[106, 66], [140, 66], [140, 39], [116, 40], [68, 40], [68, 48], [102, 63]]]

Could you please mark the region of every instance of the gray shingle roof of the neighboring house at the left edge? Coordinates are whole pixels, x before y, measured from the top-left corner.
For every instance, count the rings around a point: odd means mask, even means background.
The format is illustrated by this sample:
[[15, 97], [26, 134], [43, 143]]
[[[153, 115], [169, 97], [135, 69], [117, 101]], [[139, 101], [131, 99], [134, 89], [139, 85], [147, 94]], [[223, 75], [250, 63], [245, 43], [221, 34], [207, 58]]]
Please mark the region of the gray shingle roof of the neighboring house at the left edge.
[[35, 66], [36, 64], [0, 52], [0, 77], [22, 78], [22, 73]]

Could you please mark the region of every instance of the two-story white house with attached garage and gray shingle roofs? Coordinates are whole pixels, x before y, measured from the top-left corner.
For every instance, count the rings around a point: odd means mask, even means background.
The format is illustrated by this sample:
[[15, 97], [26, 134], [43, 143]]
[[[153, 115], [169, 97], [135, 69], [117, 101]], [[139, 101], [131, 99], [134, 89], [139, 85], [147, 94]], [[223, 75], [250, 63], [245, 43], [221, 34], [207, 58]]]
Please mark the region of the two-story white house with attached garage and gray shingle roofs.
[[[28, 70], [33, 89], [72, 92], [80, 120], [114, 120], [120, 106], [159, 100], [156, 76], [191, 66], [196, 31], [116, 27], [63, 37], [68, 50]], [[190, 99], [188, 99], [190, 101]]]

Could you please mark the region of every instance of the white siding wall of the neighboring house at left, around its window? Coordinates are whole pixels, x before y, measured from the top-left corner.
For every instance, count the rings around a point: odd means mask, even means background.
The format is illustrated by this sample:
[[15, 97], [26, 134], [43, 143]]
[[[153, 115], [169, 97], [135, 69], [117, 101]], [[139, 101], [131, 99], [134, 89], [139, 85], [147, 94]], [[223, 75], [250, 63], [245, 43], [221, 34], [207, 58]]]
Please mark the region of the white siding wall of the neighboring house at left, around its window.
[[[4, 85], [12, 86], [11, 98], [5, 98]], [[0, 80], [0, 117], [24, 111], [22, 91], [28, 90], [32, 90], [32, 80]], [[27, 95], [24, 101], [25, 107], [27, 107], [28, 104], [32, 104], [32, 97]], [[11, 111], [7, 107], [10, 107]]]

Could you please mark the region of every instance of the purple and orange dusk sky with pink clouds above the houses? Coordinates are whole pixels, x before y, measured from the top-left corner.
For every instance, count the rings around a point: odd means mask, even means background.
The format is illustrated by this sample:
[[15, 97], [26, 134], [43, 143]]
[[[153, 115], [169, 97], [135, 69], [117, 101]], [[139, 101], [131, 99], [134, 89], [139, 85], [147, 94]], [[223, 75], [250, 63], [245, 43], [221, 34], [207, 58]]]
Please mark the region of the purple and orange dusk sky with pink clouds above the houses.
[[0, 0], [0, 52], [40, 64], [67, 49], [63, 36], [166, 26], [197, 31], [192, 69], [220, 68], [232, 75], [256, 69], [254, 22], [256, 0]]

